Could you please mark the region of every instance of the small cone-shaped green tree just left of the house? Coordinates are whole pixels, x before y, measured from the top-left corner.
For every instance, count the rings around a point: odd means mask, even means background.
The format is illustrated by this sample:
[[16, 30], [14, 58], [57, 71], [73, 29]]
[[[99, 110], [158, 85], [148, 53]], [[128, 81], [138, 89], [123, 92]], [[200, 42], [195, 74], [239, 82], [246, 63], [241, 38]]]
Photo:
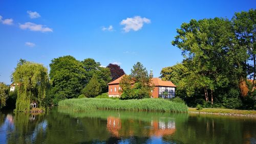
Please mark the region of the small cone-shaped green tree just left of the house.
[[100, 83], [97, 75], [93, 75], [89, 83], [81, 91], [88, 98], [94, 98], [101, 92]]

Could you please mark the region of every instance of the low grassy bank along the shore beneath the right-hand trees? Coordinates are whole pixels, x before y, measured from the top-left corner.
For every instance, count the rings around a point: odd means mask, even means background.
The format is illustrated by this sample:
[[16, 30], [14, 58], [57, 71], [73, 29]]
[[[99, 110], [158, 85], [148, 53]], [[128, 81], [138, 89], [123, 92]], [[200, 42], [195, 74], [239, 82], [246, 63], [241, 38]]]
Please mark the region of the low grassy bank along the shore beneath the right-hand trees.
[[222, 109], [222, 108], [188, 108], [189, 112], [205, 112], [205, 113], [223, 113], [223, 114], [242, 114], [242, 115], [256, 115], [255, 110], [237, 110], [237, 109]]

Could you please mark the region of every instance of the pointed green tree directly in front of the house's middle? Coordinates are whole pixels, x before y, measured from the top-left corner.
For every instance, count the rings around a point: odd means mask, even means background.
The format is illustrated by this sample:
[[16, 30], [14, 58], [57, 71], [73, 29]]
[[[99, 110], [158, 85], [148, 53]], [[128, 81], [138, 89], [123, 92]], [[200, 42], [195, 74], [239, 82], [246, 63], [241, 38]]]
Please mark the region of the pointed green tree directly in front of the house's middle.
[[140, 62], [131, 69], [131, 76], [124, 76], [119, 85], [122, 88], [120, 99], [123, 100], [150, 98], [154, 89], [146, 68]]

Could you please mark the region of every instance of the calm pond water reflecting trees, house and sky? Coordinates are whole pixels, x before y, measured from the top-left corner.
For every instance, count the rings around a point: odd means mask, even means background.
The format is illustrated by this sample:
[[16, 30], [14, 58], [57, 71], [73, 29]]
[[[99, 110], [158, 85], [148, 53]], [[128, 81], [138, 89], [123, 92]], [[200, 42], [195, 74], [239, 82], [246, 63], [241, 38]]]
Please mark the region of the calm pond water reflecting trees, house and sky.
[[256, 118], [187, 113], [0, 112], [0, 143], [256, 143]]

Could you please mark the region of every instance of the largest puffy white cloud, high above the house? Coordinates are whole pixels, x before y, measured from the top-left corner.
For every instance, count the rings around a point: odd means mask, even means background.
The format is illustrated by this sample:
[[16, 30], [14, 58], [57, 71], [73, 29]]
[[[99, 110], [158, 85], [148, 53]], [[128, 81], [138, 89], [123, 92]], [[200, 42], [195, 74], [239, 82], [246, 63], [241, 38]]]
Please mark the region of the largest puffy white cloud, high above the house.
[[124, 32], [130, 32], [131, 30], [138, 31], [143, 27], [144, 23], [151, 23], [150, 19], [140, 16], [134, 16], [133, 18], [126, 18], [120, 22], [120, 25], [124, 25]]

